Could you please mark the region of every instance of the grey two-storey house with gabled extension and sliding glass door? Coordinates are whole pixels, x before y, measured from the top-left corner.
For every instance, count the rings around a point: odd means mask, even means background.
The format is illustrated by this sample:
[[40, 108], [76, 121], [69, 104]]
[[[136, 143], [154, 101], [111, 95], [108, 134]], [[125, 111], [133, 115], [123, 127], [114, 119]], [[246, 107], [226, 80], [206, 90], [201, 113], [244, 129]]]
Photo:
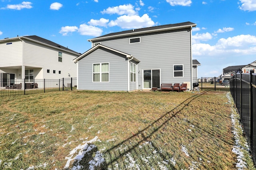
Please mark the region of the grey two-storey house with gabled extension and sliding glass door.
[[192, 89], [192, 27], [184, 22], [89, 39], [92, 48], [73, 60], [78, 90], [148, 90], [183, 82]]

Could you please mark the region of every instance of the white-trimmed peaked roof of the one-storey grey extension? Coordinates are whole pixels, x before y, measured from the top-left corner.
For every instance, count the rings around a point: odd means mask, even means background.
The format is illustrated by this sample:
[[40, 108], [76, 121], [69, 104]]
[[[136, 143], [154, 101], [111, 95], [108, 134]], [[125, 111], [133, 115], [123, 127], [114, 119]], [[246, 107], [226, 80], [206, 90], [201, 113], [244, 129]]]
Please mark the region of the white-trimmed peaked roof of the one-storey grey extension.
[[95, 51], [96, 49], [98, 48], [104, 48], [104, 49], [108, 49], [110, 51], [114, 51], [116, 53], [119, 53], [119, 54], [122, 54], [122, 55], [125, 55], [126, 58], [131, 58], [132, 60], [136, 61], [136, 62], [140, 62], [138, 59], [136, 59], [134, 56], [130, 55], [130, 54], [127, 54], [127, 53], [123, 53], [122, 51], [118, 51], [116, 49], [112, 49], [110, 47], [107, 47], [105, 45], [101, 45], [101, 44], [97, 44], [95, 45], [94, 47], [92, 47], [91, 49], [89, 49], [88, 51], [86, 51], [85, 53], [83, 53], [82, 55], [76, 57], [74, 60], [72, 60], [73, 62], [78, 62], [79, 60], [81, 60], [82, 58], [86, 57], [87, 55], [89, 55], [90, 53], [92, 53], [93, 51]]

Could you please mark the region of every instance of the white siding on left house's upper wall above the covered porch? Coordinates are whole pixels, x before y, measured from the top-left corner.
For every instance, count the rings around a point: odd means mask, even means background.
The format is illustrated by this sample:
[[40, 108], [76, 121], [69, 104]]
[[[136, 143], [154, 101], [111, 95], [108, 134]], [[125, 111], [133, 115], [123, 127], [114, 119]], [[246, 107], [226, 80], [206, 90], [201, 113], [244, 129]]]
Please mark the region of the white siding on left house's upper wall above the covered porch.
[[22, 65], [22, 41], [10, 41], [10, 43], [12, 44], [0, 43], [0, 67]]

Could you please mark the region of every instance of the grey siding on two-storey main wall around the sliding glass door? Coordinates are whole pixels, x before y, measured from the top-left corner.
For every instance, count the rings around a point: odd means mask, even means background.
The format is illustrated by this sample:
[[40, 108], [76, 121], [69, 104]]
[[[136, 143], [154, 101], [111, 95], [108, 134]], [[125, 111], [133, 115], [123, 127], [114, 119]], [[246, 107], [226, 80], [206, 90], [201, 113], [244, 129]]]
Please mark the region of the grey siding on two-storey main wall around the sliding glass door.
[[[182, 83], [191, 81], [190, 31], [170, 31], [151, 35], [136, 35], [140, 43], [129, 44], [129, 38], [100, 41], [102, 45], [133, 55], [140, 63], [138, 89], [142, 89], [142, 70], [161, 69], [160, 83]], [[184, 77], [173, 77], [173, 65], [183, 64]], [[139, 86], [140, 85], [140, 86]]]

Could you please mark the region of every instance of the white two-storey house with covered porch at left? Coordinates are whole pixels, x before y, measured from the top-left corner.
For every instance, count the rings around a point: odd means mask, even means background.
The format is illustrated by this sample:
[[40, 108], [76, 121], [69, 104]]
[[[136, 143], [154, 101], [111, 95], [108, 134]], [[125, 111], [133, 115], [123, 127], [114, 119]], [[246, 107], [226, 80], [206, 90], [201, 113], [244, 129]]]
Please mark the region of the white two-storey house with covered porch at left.
[[[16, 79], [60, 79], [76, 77], [74, 57], [81, 55], [36, 35], [0, 40], [1, 87]], [[8, 81], [6, 81], [8, 80]]]

